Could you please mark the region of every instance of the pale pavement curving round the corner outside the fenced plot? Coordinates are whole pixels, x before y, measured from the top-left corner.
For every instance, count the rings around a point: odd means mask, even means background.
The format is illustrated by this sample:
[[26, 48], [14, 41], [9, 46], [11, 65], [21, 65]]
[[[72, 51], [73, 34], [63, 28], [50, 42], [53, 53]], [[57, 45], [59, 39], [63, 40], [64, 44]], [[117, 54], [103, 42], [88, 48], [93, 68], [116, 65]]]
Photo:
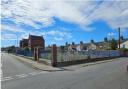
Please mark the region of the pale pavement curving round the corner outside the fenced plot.
[[91, 63], [76, 64], [76, 65], [70, 65], [70, 66], [65, 66], [65, 67], [52, 67], [51, 65], [47, 65], [48, 63], [46, 64], [43, 62], [37, 62], [37, 61], [31, 60], [32, 58], [26, 58], [26, 57], [22, 57], [22, 56], [18, 56], [18, 55], [13, 55], [13, 54], [10, 54], [10, 55], [12, 57], [15, 57], [18, 60], [21, 60], [21, 61], [27, 63], [27, 65], [32, 66], [33, 68], [36, 68], [36, 69], [39, 69], [42, 71], [50, 71], [50, 72], [53, 72], [53, 71], [73, 71], [73, 70], [80, 69], [82, 67], [96, 65], [96, 64], [100, 64], [100, 63], [117, 61], [120, 59], [120, 58], [114, 58], [111, 60], [103, 60], [103, 61], [97, 61], [97, 62], [91, 62]]

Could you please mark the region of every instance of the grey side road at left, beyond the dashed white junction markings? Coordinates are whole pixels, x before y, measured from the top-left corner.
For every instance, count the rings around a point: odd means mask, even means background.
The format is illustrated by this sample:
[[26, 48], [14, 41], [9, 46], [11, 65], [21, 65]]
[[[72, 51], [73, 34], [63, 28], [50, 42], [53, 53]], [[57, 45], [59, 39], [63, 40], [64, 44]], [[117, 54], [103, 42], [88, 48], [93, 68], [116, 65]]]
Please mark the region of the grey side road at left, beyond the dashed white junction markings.
[[7, 53], [2, 53], [1, 59], [3, 77], [38, 71]]

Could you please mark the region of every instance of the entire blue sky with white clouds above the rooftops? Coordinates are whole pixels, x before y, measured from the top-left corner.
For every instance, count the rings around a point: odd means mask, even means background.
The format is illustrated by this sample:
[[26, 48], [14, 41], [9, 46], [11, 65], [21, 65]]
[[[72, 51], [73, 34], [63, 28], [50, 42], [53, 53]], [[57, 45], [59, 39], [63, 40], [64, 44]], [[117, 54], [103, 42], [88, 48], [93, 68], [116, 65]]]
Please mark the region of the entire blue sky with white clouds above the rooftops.
[[29, 34], [45, 45], [128, 38], [127, 0], [1, 0], [1, 46], [18, 46]]

